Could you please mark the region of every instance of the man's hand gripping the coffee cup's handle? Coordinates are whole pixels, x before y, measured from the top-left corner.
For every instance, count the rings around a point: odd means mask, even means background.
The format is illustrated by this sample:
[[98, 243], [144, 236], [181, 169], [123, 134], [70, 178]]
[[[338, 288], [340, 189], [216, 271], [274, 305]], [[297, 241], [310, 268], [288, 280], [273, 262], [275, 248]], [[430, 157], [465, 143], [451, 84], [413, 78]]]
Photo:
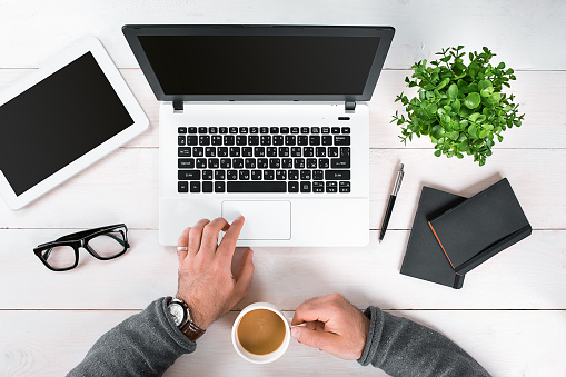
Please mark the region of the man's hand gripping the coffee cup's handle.
[[295, 310], [291, 336], [299, 343], [345, 360], [361, 357], [369, 333], [369, 319], [338, 294], [302, 302]]

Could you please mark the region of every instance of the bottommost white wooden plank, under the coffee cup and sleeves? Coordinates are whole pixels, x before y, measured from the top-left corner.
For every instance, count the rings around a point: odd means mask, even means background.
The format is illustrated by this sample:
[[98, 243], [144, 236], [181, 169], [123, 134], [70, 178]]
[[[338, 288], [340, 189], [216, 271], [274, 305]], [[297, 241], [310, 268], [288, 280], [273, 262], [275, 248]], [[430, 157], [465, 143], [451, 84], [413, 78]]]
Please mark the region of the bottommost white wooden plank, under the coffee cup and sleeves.
[[[107, 330], [136, 311], [0, 311], [0, 375], [62, 376], [79, 364]], [[449, 336], [494, 376], [559, 376], [566, 371], [565, 311], [395, 311]], [[180, 357], [165, 376], [315, 375], [386, 376], [291, 340], [268, 365], [241, 359], [231, 346], [237, 312], [209, 328], [195, 354]], [[292, 311], [286, 312], [290, 318]], [[48, 326], [46, 326], [46, 324]], [[89, 324], [89, 326], [85, 326]], [[461, 326], [466, 324], [466, 326]], [[80, 334], [80, 336], [77, 336]], [[536, 347], [534, 345], [537, 345]], [[497, 355], [494, 357], [493, 355]]]

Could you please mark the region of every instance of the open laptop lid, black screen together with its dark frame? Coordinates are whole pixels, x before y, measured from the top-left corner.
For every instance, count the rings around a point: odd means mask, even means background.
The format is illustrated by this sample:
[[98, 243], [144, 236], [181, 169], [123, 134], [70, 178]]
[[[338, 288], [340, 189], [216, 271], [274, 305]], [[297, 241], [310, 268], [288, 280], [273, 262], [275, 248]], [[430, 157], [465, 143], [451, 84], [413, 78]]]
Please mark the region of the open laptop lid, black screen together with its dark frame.
[[122, 28], [160, 101], [367, 101], [395, 29], [345, 26]]

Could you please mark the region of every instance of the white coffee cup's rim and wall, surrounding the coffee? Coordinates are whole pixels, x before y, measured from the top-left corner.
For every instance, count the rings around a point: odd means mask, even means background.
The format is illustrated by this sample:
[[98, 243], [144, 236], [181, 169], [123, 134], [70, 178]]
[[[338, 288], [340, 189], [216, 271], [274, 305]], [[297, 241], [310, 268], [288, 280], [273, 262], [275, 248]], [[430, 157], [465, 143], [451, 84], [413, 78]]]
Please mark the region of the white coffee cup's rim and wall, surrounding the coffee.
[[[281, 320], [285, 323], [285, 338], [284, 338], [282, 344], [279, 346], [279, 348], [277, 348], [272, 353], [266, 354], [266, 355], [256, 355], [256, 354], [249, 353], [248, 350], [246, 350], [246, 348], [244, 348], [241, 346], [240, 340], [238, 339], [238, 326], [240, 325], [241, 318], [247, 312], [250, 312], [251, 310], [257, 310], [257, 309], [266, 309], [266, 310], [272, 311], [272, 312], [277, 314], [281, 318]], [[244, 308], [244, 310], [240, 311], [240, 314], [234, 321], [234, 326], [232, 326], [234, 348], [236, 349], [238, 355], [240, 355], [241, 357], [244, 357], [246, 360], [248, 360], [250, 363], [267, 364], [267, 363], [272, 363], [272, 361], [277, 360], [279, 357], [281, 357], [285, 354], [285, 351], [287, 350], [287, 347], [289, 347], [290, 339], [291, 339], [291, 328], [289, 326], [289, 321], [287, 320], [287, 318], [285, 318], [284, 314], [277, 309], [277, 307], [275, 305], [271, 305], [268, 302], [256, 302], [256, 304], [248, 305], [247, 307]]]

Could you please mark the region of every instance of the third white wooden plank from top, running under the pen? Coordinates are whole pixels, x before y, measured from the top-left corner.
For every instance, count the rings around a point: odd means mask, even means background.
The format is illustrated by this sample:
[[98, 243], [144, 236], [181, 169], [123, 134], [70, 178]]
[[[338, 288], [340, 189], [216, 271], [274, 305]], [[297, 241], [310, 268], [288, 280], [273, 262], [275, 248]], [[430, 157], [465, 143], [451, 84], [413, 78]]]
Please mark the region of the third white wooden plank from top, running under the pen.
[[[466, 197], [507, 177], [537, 229], [566, 229], [566, 149], [500, 149], [485, 167], [426, 149], [370, 151], [370, 227], [381, 225], [400, 162], [406, 176], [389, 222], [410, 229], [423, 185]], [[257, 196], [256, 196], [257, 197]], [[158, 227], [158, 149], [122, 148], [19, 211], [0, 205], [6, 228], [89, 228], [126, 222]]]

